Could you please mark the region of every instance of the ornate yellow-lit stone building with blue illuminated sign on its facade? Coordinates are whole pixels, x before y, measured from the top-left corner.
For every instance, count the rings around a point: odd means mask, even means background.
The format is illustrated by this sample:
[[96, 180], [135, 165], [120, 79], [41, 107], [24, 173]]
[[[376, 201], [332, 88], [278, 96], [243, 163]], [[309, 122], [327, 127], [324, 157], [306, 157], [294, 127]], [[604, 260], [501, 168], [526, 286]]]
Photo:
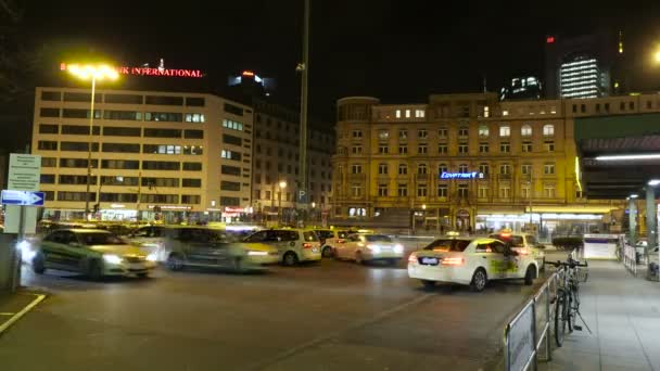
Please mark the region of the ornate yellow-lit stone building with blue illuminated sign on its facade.
[[334, 223], [546, 232], [604, 231], [623, 206], [586, 200], [575, 119], [660, 112], [660, 95], [504, 101], [431, 95], [423, 104], [338, 101]]

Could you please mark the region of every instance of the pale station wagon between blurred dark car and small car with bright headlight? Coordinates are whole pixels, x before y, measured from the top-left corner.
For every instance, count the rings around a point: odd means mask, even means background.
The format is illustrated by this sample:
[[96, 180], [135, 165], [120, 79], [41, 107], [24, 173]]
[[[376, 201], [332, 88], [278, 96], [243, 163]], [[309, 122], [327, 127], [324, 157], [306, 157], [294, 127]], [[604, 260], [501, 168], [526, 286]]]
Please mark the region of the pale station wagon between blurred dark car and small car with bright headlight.
[[276, 247], [279, 252], [280, 263], [285, 266], [321, 259], [320, 241], [313, 229], [269, 229], [254, 232], [243, 241]]

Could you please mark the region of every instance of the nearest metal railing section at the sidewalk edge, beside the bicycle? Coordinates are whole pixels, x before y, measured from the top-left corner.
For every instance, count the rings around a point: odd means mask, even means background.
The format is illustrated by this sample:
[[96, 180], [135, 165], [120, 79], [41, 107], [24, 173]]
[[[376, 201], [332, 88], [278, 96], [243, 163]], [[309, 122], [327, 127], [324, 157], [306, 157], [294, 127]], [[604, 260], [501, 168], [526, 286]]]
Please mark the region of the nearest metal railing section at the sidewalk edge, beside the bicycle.
[[[554, 272], [507, 323], [504, 331], [506, 371], [529, 370], [532, 366], [536, 369], [540, 360], [551, 360], [550, 305], [557, 296], [561, 274], [563, 269]], [[540, 357], [542, 347], [543, 357]]]

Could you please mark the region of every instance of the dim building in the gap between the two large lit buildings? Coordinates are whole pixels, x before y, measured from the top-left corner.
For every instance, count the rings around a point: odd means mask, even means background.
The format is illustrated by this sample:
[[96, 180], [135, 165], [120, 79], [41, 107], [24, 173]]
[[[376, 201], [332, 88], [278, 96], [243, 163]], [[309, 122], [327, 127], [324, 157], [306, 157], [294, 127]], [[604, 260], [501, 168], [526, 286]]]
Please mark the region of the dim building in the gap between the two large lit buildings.
[[[300, 113], [254, 99], [253, 208], [263, 221], [293, 222], [302, 210], [299, 200]], [[332, 195], [334, 131], [313, 123], [308, 127], [307, 168], [309, 218], [327, 219]]]

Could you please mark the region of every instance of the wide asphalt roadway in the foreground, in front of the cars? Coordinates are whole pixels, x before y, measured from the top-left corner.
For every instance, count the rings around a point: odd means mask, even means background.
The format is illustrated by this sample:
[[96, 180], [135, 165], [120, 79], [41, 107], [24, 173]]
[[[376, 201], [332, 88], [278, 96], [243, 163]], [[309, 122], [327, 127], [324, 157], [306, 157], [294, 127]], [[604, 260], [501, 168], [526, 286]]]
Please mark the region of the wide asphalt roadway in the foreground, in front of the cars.
[[51, 296], [0, 337], [3, 371], [479, 370], [500, 357], [505, 321], [534, 290], [426, 291], [404, 263], [100, 283], [23, 271]]

